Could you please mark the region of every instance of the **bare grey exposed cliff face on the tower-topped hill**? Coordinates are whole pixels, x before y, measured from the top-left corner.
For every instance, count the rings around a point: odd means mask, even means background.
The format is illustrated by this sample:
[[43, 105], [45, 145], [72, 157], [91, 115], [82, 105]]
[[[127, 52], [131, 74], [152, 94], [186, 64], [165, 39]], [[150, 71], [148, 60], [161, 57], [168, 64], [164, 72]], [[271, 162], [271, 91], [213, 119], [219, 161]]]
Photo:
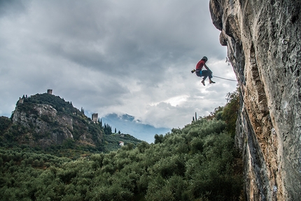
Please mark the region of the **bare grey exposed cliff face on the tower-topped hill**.
[[[19, 104], [13, 112], [13, 125], [18, 125], [22, 129], [22, 134], [18, 137], [19, 144], [41, 148], [63, 144], [66, 139], [74, 139], [73, 127], [75, 126], [76, 134], [79, 135], [76, 139], [77, 144], [96, 146], [92, 133], [82, 120], [58, 113], [49, 104]], [[98, 141], [102, 141], [102, 133], [94, 133], [94, 135], [97, 136]]]

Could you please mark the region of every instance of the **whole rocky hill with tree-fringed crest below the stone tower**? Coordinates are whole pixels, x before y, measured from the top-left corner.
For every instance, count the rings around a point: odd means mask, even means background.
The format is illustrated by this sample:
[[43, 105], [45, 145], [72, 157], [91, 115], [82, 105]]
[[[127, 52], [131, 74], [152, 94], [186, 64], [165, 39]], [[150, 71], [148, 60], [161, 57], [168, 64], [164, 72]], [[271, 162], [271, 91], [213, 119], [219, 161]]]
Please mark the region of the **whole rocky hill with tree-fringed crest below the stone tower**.
[[2, 130], [3, 137], [19, 145], [48, 148], [73, 143], [99, 147], [104, 135], [102, 127], [83, 111], [48, 93], [20, 98], [10, 119], [10, 125]]

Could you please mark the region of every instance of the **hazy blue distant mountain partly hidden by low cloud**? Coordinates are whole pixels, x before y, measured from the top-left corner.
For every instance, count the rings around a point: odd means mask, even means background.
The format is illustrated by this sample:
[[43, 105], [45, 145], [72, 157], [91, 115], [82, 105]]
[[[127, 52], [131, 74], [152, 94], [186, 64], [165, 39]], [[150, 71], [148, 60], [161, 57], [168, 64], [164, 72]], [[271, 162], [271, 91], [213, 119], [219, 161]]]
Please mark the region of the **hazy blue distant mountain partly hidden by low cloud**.
[[128, 114], [118, 115], [117, 113], [110, 113], [102, 117], [102, 123], [108, 123], [111, 125], [112, 130], [115, 128], [122, 133], [128, 133], [137, 139], [152, 143], [154, 141], [155, 134], [166, 134], [170, 132], [171, 128], [167, 127], [154, 127], [141, 123], [140, 120], [135, 120], [134, 116]]

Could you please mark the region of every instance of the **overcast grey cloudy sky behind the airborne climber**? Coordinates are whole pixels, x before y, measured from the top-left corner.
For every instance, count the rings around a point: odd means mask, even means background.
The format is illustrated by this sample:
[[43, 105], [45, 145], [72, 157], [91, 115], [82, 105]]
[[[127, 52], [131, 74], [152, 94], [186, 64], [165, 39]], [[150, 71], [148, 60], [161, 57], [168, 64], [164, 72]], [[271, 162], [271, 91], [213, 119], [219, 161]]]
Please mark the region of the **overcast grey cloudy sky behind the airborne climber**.
[[90, 117], [127, 113], [183, 127], [226, 102], [236, 79], [211, 22], [209, 0], [1, 0], [0, 116], [22, 95], [53, 90]]

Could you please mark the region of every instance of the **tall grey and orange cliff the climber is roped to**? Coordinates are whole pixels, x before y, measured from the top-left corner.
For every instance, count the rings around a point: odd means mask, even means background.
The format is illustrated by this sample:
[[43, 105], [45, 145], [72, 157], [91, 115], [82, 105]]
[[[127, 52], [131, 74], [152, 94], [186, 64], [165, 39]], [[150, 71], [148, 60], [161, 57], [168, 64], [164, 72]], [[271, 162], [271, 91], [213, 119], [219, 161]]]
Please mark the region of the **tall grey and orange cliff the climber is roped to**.
[[247, 200], [301, 198], [301, 1], [211, 0], [239, 81]]

